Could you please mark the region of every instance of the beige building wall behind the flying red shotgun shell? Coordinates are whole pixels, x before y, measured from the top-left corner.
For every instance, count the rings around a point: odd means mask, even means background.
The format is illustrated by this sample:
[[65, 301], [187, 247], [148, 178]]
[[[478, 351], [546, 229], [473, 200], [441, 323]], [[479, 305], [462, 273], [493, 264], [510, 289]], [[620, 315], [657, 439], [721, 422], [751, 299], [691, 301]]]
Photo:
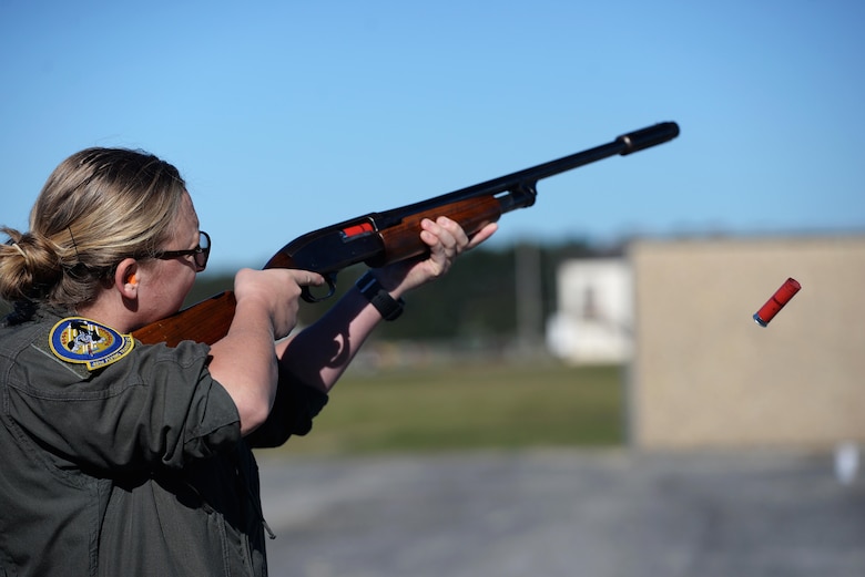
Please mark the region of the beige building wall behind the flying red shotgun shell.
[[[640, 240], [629, 258], [635, 446], [865, 441], [865, 237]], [[788, 277], [802, 290], [761, 328]]]

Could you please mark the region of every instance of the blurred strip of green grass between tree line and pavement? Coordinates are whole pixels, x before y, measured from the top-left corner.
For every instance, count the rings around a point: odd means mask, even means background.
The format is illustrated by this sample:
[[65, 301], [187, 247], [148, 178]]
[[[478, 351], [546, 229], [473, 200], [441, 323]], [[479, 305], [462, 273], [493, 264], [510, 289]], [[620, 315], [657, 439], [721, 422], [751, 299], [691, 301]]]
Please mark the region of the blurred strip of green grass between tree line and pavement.
[[347, 373], [312, 433], [276, 451], [347, 455], [621, 444], [618, 367], [498, 363]]

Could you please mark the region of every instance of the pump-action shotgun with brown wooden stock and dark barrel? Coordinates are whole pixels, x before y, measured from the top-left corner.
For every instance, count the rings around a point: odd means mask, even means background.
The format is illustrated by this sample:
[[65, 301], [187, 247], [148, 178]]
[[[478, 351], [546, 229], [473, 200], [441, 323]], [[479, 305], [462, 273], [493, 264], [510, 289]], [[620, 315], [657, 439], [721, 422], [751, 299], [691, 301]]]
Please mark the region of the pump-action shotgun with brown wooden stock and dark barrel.
[[[375, 268], [424, 255], [427, 246], [419, 238], [424, 218], [447, 216], [471, 236], [505, 213], [533, 205], [541, 178], [609, 156], [625, 156], [678, 135], [676, 123], [663, 122], [623, 134], [609, 144], [449, 194], [330, 225], [292, 240], [264, 268], [295, 268], [320, 274], [327, 280], [327, 293], [315, 296], [308, 287], [303, 287], [302, 297], [307, 302], [325, 300], [336, 290], [337, 272], [352, 265], [364, 262]], [[228, 332], [235, 305], [234, 293], [225, 291], [132, 334], [144, 343], [165, 342], [169, 347], [182, 340], [213, 344]]]

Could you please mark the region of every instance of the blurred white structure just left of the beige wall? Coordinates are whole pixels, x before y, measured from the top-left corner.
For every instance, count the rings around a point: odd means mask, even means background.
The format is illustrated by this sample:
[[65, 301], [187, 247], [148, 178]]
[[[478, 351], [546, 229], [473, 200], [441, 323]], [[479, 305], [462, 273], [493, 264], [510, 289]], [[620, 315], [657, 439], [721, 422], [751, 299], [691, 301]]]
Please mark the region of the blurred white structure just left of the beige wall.
[[557, 275], [550, 351], [574, 364], [622, 363], [633, 350], [633, 281], [624, 259], [570, 260]]

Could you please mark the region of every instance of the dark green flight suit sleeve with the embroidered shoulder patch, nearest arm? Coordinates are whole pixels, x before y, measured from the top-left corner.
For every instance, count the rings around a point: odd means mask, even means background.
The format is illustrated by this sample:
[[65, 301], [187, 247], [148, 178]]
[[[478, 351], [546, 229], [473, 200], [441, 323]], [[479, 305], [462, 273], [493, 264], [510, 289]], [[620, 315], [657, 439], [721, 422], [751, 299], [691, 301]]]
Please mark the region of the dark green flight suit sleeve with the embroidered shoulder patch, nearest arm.
[[240, 415], [206, 368], [208, 347], [136, 343], [123, 359], [85, 372], [37, 348], [8, 375], [7, 416], [21, 440], [91, 470], [180, 468], [233, 450]]

